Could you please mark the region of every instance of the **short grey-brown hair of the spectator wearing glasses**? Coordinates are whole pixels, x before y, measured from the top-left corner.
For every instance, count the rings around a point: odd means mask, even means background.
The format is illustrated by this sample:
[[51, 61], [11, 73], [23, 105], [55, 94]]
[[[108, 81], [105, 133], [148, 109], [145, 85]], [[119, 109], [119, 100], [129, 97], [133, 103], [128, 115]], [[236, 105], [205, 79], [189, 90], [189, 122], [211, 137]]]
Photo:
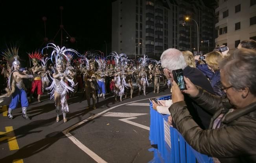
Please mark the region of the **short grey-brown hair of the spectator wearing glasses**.
[[224, 58], [219, 67], [225, 72], [227, 82], [236, 90], [248, 87], [256, 96], [256, 51], [240, 48], [227, 58]]

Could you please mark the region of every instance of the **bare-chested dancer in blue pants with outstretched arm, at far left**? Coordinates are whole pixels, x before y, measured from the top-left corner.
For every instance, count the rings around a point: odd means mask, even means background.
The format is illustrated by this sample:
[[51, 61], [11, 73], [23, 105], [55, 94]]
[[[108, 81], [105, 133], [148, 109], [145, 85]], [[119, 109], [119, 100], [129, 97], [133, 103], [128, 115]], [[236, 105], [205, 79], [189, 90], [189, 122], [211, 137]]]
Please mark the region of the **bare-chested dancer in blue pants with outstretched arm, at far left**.
[[20, 101], [22, 107], [22, 118], [29, 120], [30, 118], [27, 115], [28, 108], [28, 99], [26, 93], [26, 87], [23, 83], [23, 78], [33, 78], [33, 75], [26, 74], [27, 71], [19, 72], [20, 61], [18, 56], [18, 48], [11, 47], [7, 48], [3, 52], [4, 58], [7, 62], [12, 64], [11, 69], [13, 70], [8, 78], [7, 82], [7, 97], [11, 96], [11, 103], [9, 105], [7, 116], [9, 119], [13, 119], [12, 110], [16, 109]]

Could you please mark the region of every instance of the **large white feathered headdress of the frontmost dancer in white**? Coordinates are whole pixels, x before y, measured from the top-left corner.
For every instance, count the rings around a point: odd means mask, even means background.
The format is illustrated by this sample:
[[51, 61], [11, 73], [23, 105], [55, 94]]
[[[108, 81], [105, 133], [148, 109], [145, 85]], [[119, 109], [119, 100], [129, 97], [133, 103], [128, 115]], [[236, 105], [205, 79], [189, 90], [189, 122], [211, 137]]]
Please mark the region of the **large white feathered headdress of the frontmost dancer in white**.
[[[56, 46], [55, 44], [53, 44], [53, 43], [48, 43], [47, 44], [47, 46], [46, 47], [44, 47], [43, 49], [42, 49], [42, 52], [43, 52], [43, 50], [45, 49], [45, 48], [48, 48], [48, 47], [52, 47], [53, 48], [53, 51], [52, 51], [52, 54], [51, 54], [51, 60], [52, 60], [52, 62], [53, 62], [53, 59], [55, 59], [55, 63], [56, 63], [56, 66], [57, 65], [63, 65], [64, 64], [64, 62], [65, 62], [65, 57], [68, 57], [65, 53], [67, 53], [67, 52], [74, 52], [75, 54], [77, 54], [78, 56], [80, 56], [79, 55], [79, 53], [76, 51], [76, 50], [74, 50], [74, 49], [66, 49], [66, 47], [62, 47], [62, 48], [60, 48], [59, 46]], [[53, 62], [54, 63], [54, 62]]]

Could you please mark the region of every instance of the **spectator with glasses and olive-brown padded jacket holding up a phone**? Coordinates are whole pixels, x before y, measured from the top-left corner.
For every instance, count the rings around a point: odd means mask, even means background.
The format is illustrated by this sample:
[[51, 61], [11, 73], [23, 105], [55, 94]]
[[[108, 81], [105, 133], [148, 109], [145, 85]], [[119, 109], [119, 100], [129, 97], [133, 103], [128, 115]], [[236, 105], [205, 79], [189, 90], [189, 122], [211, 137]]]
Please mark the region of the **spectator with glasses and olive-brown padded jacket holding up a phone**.
[[187, 109], [184, 95], [173, 82], [170, 113], [186, 141], [221, 163], [256, 162], [256, 51], [241, 48], [219, 64], [225, 98], [214, 96], [185, 78], [189, 94], [212, 117], [201, 129]]

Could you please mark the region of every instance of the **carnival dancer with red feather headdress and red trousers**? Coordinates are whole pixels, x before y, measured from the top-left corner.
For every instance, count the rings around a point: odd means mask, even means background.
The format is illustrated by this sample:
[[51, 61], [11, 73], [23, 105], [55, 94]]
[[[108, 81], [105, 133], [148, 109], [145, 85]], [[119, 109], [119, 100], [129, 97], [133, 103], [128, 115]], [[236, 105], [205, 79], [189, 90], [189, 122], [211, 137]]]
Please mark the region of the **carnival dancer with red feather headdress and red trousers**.
[[32, 52], [31, 54], [28, 54], [28, 55], [29, 55], [29, 58], [32, 59], [33, 67], [31, 68], [31, 71], [33, 72], [33, 76], [34, 76], [34, 81], [32, 82], [29, 101], [32, 101], [33, 93], [37, 88], [37, 100], [38, 100], [38, 103], [41, 103], [40, 98], [41, 98], [41, 95], [43, 94], [42, 80], [41, 80], [42, 67], [41, 65], [39, 65], [39, 61], [41, 61], [43, 56], [39, 52], [35, 52], [35, 53]]

